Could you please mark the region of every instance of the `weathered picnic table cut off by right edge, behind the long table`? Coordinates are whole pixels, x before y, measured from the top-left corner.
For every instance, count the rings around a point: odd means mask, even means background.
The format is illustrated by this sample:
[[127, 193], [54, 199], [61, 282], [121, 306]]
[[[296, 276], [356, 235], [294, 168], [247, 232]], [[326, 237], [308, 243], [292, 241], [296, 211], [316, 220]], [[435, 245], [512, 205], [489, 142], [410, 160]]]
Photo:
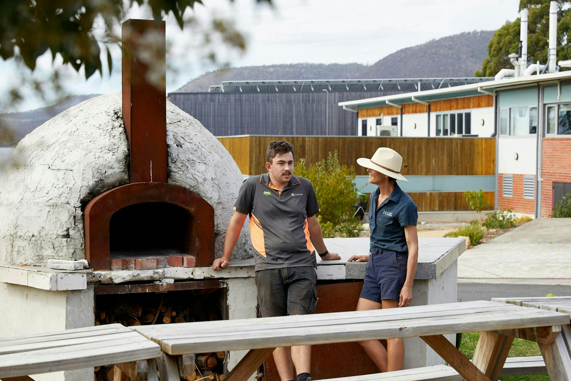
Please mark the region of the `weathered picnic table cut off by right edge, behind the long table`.
[[[571, 296], [494, 297], [492, 301], [527, 308], [537, 308], [544, 311], [557, 311], [570, 315], [571, 320]], [[557, 380], [571, 380], [571, 329], [569, 323], [562, 325], [561, 335], [557, 337], [552, 346], [542, 346], [540, 344], [545, 367], [549, 375], [552, 376], [553, 374], [552, 378]]]

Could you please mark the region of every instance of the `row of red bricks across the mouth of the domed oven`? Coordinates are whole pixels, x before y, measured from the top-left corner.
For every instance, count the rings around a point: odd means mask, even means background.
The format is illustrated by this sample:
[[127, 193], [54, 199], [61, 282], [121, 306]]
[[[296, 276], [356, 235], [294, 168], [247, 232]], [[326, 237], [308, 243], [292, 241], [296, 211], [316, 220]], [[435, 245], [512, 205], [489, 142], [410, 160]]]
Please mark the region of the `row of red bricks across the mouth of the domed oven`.
[[144, 249], [112, 251], [111, 270], [151, 270], [164, 267], [195, 267], [193, 255], [178, 249]]

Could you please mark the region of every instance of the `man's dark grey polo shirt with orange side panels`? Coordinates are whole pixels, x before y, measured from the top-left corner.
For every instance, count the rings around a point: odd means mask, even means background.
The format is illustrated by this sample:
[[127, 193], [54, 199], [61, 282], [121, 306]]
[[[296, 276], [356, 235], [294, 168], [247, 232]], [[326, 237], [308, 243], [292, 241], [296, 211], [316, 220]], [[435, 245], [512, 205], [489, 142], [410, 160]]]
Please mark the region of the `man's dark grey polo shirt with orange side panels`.
[[244, 180], [234, 210], [250, 215], [256, 271], [317, 267], [309, 241], [308, 217], [319, 212], [311, 181], [292, 176], [282, 192], [264, 173]]

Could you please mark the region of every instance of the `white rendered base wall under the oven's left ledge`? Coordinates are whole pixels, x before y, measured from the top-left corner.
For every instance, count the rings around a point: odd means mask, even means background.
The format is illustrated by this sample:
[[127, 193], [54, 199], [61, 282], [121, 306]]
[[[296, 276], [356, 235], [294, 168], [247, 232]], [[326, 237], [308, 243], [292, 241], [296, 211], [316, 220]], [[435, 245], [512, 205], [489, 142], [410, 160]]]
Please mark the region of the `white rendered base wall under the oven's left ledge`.
[[[46, 291], [0, 283], [0, 338], [91, 327], [93, 287], [78, 291]], [[33, 375], [36, 381], [93, 380], [93, 368]]]

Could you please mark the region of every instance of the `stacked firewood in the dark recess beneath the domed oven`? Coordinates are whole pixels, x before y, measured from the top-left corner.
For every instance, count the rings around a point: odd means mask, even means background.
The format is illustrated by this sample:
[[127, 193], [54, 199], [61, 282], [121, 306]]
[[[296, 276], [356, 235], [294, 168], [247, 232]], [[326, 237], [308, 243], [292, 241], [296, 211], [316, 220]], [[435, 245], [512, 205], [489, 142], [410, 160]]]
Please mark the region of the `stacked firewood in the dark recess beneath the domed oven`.
[[[202, 291], [202, 290], [201, 290]], [[123, 326], [174, 324], [222, 320], [222, 308], [217, 296], [204, 292], [133, 293], [128, 295], [98, 295], [95, 304], [95, 325], [119, 323]], [[204, 290], [206, 291], [206, 290]], [[198, 354], [195, 374], [186, 381], [223, 381], [226, 352]], [[112, 366], [96, 367], [96, 381], [115, 380]]]

